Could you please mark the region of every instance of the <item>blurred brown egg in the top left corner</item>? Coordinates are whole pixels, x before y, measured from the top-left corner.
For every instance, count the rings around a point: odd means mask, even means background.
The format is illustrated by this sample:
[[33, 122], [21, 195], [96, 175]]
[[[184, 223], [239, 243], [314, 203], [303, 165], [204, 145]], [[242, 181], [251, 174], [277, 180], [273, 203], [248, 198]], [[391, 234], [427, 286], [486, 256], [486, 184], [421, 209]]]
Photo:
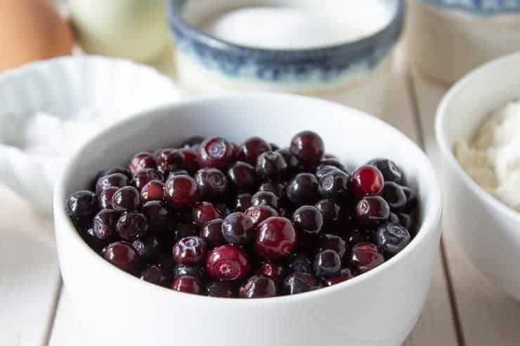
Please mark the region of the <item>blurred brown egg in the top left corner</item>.
[[70, 26], [48, 0], [0, 0], [0, 72], [70, 55]]

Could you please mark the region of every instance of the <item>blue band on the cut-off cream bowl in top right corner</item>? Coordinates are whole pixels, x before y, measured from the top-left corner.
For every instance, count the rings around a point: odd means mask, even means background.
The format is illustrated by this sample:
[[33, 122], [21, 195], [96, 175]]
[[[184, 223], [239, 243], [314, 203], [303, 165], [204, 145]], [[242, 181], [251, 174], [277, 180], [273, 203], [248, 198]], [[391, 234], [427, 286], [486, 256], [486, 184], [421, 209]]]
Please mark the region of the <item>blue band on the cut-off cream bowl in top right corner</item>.
[[500, 15], [520, 12], [520, 0], [421, 0], [427, 4], [464, 11], [472, 15]]

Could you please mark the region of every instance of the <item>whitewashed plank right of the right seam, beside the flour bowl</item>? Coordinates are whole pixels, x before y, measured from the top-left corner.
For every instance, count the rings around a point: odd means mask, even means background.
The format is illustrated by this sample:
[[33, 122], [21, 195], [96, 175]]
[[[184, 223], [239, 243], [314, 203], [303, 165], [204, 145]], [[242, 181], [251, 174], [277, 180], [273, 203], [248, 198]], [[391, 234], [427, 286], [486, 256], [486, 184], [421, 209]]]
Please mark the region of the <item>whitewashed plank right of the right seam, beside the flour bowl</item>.
[[[427, 153], [434, 166], [441, 165], [434, 117], [448, 87], [429, 81], [418, 71], [413, 73], [413, 86]], [[443, 248], [464, 345], [520, 345], [520, 302], [507, 297], [476, 270], [449, 228], [443, 229]]]

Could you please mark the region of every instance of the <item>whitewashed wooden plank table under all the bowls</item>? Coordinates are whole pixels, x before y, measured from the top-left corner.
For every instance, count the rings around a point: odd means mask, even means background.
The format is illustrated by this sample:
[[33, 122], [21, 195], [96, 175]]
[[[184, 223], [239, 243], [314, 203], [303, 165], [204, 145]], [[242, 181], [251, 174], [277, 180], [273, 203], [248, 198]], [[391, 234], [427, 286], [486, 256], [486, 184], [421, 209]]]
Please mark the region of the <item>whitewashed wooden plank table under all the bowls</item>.
[[[398, 53], [385, 120], [422, 145], [434, 166], [440, 164], [434, 114], [446, 90], [413, 71]], [[450, 229], [443, 232], [427, 304], [405, 345], [520, 345], [520, 303], [475, 270]], [[103, 345], [84, 331], [62, 291], [51, 222], [5, 187], [0, 187], [0, 345]]]

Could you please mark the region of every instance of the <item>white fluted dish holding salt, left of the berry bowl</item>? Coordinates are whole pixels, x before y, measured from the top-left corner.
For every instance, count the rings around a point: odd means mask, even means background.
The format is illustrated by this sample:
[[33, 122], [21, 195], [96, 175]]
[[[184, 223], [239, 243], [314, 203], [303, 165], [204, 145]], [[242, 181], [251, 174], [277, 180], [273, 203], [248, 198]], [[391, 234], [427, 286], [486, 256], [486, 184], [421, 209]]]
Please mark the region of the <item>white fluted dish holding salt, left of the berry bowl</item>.
[[[83, 119], [91, 122], [92, 130], [179, 97], [167, 77], [122, 59], [88, 55], [56, 58], [1, 74], [0, 182], [31, 201], [37, 210], [50, 214], [53, 183], [67, 150], [52, 157], [25, 152], [20, 140], [30, 117], [46, 112], [74, 121], [80, 110], [89, 107], [98, 110], [96, 118]], [[52, 131], [46, 135], [56, 141], [66, 134]]]

